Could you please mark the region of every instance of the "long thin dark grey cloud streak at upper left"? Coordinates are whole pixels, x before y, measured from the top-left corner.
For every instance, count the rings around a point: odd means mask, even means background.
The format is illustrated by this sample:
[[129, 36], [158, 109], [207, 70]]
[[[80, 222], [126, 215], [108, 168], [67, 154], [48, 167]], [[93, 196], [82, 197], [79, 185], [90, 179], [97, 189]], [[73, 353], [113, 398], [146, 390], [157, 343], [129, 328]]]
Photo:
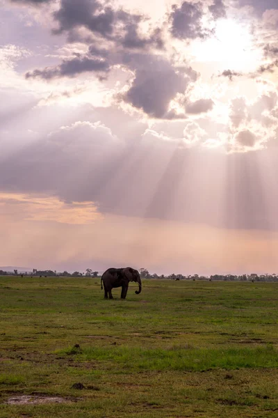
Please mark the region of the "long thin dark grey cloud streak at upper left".
[[76, 57], [63, 61], [60, 65], [44, 70], [33, 70], [26, 72], [26, 79], [40, 77], [42, 79], [53, 79], [55, 77], [74, 77], [81, 72], [107, 72], [109, 64], [107, 61], [92, 59], [88, 56]]

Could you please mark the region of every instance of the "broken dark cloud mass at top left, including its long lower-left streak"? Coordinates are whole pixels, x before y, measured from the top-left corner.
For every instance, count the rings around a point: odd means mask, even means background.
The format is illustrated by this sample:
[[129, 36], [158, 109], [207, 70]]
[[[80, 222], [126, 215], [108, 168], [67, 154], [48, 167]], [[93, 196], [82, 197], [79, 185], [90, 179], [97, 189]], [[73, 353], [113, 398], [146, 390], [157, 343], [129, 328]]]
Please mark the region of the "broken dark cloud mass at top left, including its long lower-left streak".
[[[139, 24], [143, 15], [126, 13], [104, 6], [97, 0], [62, 0], [54, 13], [58, 29], [54, 33], [66, 32], [70, 42], [91, 43], [88, 54], [64, 60], [54, 68], [35, 69], [26, 73], [26, 78], [73, 77], [81, 72], [108, 72], [111, 65], [122, 64], [124, 51], [163, 47], [161, 29], [156, 28], [146, 36], [141, 36]], [[88, 29], [90, 35], [81, 35], [79, 29]], [[108, 49], [109, 48], [109, 49]], [[109, 60], [108, 60], [109, 56]]]

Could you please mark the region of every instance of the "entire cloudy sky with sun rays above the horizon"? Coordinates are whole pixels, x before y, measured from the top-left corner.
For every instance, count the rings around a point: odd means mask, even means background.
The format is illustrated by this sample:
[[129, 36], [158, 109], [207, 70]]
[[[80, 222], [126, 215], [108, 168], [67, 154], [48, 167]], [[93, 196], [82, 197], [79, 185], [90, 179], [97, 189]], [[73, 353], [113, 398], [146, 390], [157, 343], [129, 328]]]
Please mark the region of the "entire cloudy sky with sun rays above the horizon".
[[0, 266], [277, 273], [277, 0], [0, 0], [0, 80]]

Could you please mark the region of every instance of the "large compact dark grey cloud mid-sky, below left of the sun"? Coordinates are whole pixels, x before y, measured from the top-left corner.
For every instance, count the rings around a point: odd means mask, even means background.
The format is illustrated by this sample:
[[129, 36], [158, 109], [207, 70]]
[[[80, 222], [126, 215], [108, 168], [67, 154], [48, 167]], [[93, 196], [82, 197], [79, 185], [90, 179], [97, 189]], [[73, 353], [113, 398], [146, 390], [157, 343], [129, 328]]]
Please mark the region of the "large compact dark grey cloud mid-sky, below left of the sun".
[[168, 113], [170, 101], [185, 93], [197, 74], [191, 69], [177, 72], [169, 61], [159, 56], [138, 54], [126, 56], [126, 64], [136, 72], [124, 100], [154, 118], [174, 118]]

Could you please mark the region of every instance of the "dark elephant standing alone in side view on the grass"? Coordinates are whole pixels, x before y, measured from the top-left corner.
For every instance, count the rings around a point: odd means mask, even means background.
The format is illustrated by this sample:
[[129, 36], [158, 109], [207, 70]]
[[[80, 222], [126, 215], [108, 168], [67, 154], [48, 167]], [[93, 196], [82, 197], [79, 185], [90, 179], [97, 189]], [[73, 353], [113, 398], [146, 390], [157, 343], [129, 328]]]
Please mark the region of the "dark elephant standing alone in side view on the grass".
[[111, 290], [113, 288], [122, 287], [121, 299], [126, 298], [127, 289], [129, 288], [129, 281], [136, 281], [139, 285], [139, 290], [136, 291], [136, 295], [139, 295], [142, 290], [141, 278], [138, 270], [131, 267], [126, 268], [108, 268], [101, 276], [101, 289], [103, 289], [102, 282], [104, 283], [104, 298], [113, 299]]

